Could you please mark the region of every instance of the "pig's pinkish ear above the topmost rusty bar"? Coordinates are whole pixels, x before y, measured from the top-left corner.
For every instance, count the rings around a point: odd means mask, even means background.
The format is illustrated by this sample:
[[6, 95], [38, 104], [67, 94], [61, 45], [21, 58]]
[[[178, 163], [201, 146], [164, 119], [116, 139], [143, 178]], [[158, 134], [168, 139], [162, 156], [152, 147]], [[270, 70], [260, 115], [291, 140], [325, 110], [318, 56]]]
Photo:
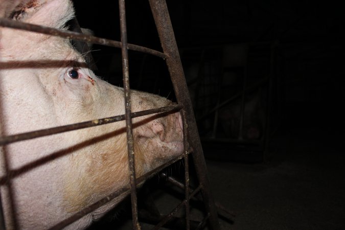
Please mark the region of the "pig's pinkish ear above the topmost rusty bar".
[[70, 0], [0, 0], [0, 7], [0, 16], [60, 29], [74, 17]]

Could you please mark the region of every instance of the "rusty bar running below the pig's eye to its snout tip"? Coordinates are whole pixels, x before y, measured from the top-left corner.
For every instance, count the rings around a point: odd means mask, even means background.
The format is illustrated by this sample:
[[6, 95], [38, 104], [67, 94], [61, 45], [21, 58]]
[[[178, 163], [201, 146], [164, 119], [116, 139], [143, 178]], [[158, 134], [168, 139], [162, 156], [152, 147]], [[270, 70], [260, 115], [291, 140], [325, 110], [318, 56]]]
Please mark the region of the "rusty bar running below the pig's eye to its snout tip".
[[[153, 113], [163, 113], [163, 112], [176, 111], [176, 110], [179, 110], [181, 108], [182, 108], [181, 105], [169, 105], [169, 106], [161, 107], [161, 108], [132, 112], [131, 117], [136, 118], [136, 117], [141, 117], [141, 116], [145, 116], [145, 115], [153, 114]], [[86, 121], [86, 122], [71, 124], [71, 125], [64, 125], [64, 126], [58, 126], [58, 127], [54, 127], [54, 128], [41, 129], [41, 130], [36, 130], [36, 131], [31, 131], [31, 132], [25, 132], [25, 133], [20, 133], [20, 134], [3, 136], [3, 137], [0, 137], [0, 146], [5, 145], [5, 144], [10, 144], [13, 142], [34, 139], [34, 138], [41, 137], [41, 136], [47, 136], [47, 135], [57, 134], [57, 133], [61, 133], [61, 132], [67, 132], [67, 131], [72, 131], [72, 130], [77, 130], [77, 129], [83, 129], [83, 128], [88, 128], [88, 127], [98, 126], [98, 125], [105, 125], [105, 124], [118, 122], [118, 121], [122, 121], [122, 120], [125, 120], [124, 114], [119, 115], [119, 116], [109, 117], [109, 118], [103, 118], [103, 119], [97, 119], [97, 120], [92, 120], [92, 121]]]

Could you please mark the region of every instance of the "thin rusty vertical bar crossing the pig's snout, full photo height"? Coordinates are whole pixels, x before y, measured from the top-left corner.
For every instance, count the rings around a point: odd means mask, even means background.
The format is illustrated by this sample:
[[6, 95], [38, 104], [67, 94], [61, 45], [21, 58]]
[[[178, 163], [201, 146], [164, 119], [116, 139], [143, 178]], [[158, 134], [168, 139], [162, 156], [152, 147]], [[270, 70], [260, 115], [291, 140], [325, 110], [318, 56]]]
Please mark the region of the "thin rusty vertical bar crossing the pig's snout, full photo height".
[[131, 119], [130, 88], [129, 88], [125, 0], [119, 0], [119, 9], [120, 9], [122, 72], [123, 72], [123, 85], [124, 85], [124, 93], [125, 93], [125, 118], [126, 118], [126, 131], [127, 131], [128, 166], [129, 166], [129, 173], [130, 173], [129, 179], [130, 179], [131, 202], [132, 202], [132, 222], [133, 222], [133, 229], [139, 230], [141, 229], [141, 227], [138, 221], [138, 212], [137, 212], [133, 133], [132, 133], [132, 119]]

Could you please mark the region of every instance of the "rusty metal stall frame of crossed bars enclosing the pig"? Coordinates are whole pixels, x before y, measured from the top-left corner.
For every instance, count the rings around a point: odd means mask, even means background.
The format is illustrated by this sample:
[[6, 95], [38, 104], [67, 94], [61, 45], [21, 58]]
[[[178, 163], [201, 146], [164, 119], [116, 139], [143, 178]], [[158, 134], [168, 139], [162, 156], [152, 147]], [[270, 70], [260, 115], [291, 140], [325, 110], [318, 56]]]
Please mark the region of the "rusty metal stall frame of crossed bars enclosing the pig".
[[[153, 229], [158, 229], [159, 227], [163, 226], [170, 218], [173, 217], [173, 214], [177, 212], [180, 208], [185, 206], [186, 209], [186, 229], [190, 229], [190, 206], [189, 200], [201, 191], [206, 214], [205, 218], [200, 222], [199, 227], [205, 225], [206, 221], [208, 221], [210, 229], [219, 229], [219, 222], [217, 218], [217, 211], [215, 202], [210, 190], [210, 182], [208, 178], [208, 174], [206, 171], [206, 164], [203, 157], [202, 147], [200, 143], [200, 137], [198, 135], [198, 130], [195, 122], [194, 112], [192, 108], [191, 99], [188, 94], [187, 83], [185, 80], [185, 75], [182, 70], [182, 65], [177, 49], [177, 44], [174, 36], [174, 32], [172, 29], [170, 16], [168, 12], [168, 8], [166, 5], [165, 0], [149, 0], [149, 4], [151, 7], [151, 11], [154, 17], [154, 21], [156, 24], [157, 32], [160, 38], [160, 42], [163, 48], [163, 53], [158, 52], [155, 50], [151, 50], [145, 47], [140, 47], [139, 45], [129, 44], [127, 43], [127, 30], [126, 30], [126, 11], [125, 11], [125, 1], [119, 0], [119, 9], [120, 9], [120, 29], [121, 29], [121, 42], [114, 41], [104, 38], [98, 38], [91, 35], [84, 35], [78, 32], [71, 32], [71, 31], [62, 31], [54, 28], [48, 28], [43, 26], [31, 25], [26, 24], [24, 22], [14, 21], [6, 18], [0, 18], [0, 26], [2, 27], [10, 27], [19, 30], [26, 30], [32, 31], [37, 33], [43, 33], [53, 36], [60, 36], [67, 39], [73, 39], [82, 42], [91, 42], [96, 44], [108, 45], [110, 47], [121, 48], [122, 50], [122, 64], [123, 64], [123, 81], [124, 81], [124, 96], [125, 96], [125, 114], [121, 116], [115, 116], [110, 118], [103, 118], [98, 120], [92, 120], [82, 123], [76, 123], [71, 125], [65, 125], [60, 127], [54, 127], [49, 129], [42, 129], [36, 130], [32, 132], [20, 133], [15, 135], [9, 136], [2, 136], [0, 137], [0, 145], [7, 145], [10, 143], [24, 141], [28, 139], [34, 139], [36, 137], [52, 135], [56, 133], [72, 131], [76, 129], [82, 129], [87, 127], [93, 127], [98, 125], [104, 125], [112, 122], [117, 121], [126, 121], [126, 133], [127, 133], [127, 147], [128, 147], [128, 159], [129, 159], [129, 169], [130, 169], [130, 183], [129, 185], [111, 193], [102, 198], [101, 200], [91, 204], [84, 210], [74, 214], [73, 216], [62, 220], [57, 225], [52, 227], [51, 229], [60, 229], [72, 222], [78, 220], [82, 216], [90, 213], [100, 206], [107, 203], [109, 200], [119, 196], [124, 192], [130, 191], [131, 193], [131, 203], [132, 203], [132, 224], [133, 229], [141, 229], [139, 220], [138, 220], [138, 211], [137, 211], [137, 198], [136, 198], [136, 185], [143, 182], [145, 179], [149, 178], [152, 174], [157, 173], [158, 171], [162, 170], [163, 168], [177, 162], [177, 160], [183, 158], [185, 161], [185, 199], [182, 200], [176, 208], [168, 214], [165, 218], [163, 218]], [[171, 76], [171, 80], [173, 82], [173, 87], [175, 90], [175, 95], [178, 104], [171, 105], [162, 108], [150, 109], [145, 111], [139, 112], [131, 112], [130, 109], [130, 87], [129, 87], [129, 72], [128, 72], [128, 49], [140, 51], [144, 53], [148, 53], [151, 55], [155, 55], [166, 60], [166, 64], [168, 66], [168, 70]], [[159, 166], [158, 168], [154, 169], [153, 171], [139, 177], [135, 178], [135, 168], [134, 168], [134, 151], [133, 151], [133, 136], [132, 136], [132, 124], [131, 119], [135, 117], [144, 116], [147, 114], [152, 113], [167, 113], [171, 111], [180, 111], [183, 120], [183, 143], [184, 143], [184, 150], [183, 154], [176, 157], [175, 159], [170, 160], [166, 164]], [[193, 150], [192, 156], [195, 162], [195, 169], [197, 173], [197, 177], [199, 180], [199, 186], [191, 190], [189, 186], [189, 149]], [[30, 163], [25, 165], [17, 170], [7, 170], [6, 175], [0, 178], [0, 182], [4, 183], [6, 181], [10, 181], [15, 176], [20, 175], [21, 173], [27, 172], [30, 169], [40, 165], [49, 163], [50, 160], [54, 160], [55, 158], [59, 157], [58, 155], [50, 155], [48, 157], [44, 157], [43, 159], [39, 159], [37, 162]], [[1, 203], [0, 203], [1, 204]], [[2, 206], [0, 207], [0, 220], [1, 225], [0, 229], [5, 229], [4, 218], [2, 213]]]

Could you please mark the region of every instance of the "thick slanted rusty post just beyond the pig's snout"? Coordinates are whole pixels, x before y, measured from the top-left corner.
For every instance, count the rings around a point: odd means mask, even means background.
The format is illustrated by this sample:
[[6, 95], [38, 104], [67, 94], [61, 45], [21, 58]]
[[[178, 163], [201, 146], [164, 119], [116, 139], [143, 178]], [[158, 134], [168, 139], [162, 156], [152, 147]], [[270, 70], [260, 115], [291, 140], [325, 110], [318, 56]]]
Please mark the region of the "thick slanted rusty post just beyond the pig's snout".
[[217, 211], [210, 190], [210, 182], [206, 170], [205, 159], [203, 158], [203, 152], [197, 125], [195, 122], [192, 102], [188, 94], [185, 74], [182, 70], [182, 64], [178, 53], [167, 4], [165, 0], [149, 0], [149, 3], [157, 27], [160, 43], [162, 45], [164, 53], [168, 55], [166, 62], [168, 65], [171, 80], [173, 82], [177, 101], [179, 104], [183, 105], [183, 110], [186, 112], [186, 120], [188, 124], [188, 141], [194, 150], [194, 153], [192, 155], [194, 158], [198, 179], [202, 186], [202, 196], [205, 204], [205, 209], [210, 213], [210, 228], [219, 229], [220, 226], [217, 218]]

